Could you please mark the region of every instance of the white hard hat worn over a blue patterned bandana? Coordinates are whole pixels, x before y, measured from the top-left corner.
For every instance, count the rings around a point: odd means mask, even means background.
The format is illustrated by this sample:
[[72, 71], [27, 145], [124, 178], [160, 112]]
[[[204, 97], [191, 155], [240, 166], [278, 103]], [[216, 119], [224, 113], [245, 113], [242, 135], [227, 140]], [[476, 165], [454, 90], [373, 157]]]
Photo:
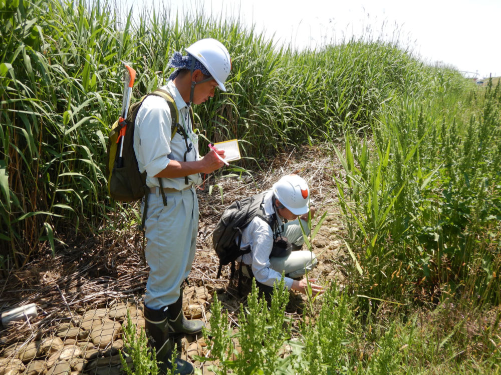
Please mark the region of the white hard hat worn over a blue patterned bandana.
[[219, 40], [200, 39], [187, 47], [186, 52], [200, 61], [216, 80], [219, 88], [226, 91], [224, 81], [231, 70], [231, 59], [228, 50]]

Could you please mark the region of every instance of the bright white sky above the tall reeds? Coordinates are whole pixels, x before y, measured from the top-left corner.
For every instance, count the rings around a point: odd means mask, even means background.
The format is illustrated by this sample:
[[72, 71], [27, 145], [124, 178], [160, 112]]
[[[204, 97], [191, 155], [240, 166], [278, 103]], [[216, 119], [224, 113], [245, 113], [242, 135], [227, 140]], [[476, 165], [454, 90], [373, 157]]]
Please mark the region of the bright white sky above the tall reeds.
[[[501, 75], [501, 0], [117, 0], [135, 14], [170, 6], [180, 14], [235, 14], [274, 40], [301, 48], [362, 34], [395, 40], [416, 56], [478, 77]], [[370, 32], [367, 32], [370, 30]], [[469, 74], [474, 75], [474, 74]]]

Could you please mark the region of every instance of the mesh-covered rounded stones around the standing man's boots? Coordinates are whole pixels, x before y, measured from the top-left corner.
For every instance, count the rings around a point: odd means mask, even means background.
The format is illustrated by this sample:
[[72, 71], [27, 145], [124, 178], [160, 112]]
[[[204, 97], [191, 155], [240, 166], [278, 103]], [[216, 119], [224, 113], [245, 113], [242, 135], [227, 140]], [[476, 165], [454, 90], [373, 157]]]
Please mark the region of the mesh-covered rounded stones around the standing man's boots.
[[[208, 322], [208, 304], [212, 289], [190, 286], [184, 293], [183, 311], [188, 318]], [[133, 368], [124, 347], [127, 314], [139, 336], [144, 328], [143, 301], [140, 298], [113, 299], [101, 307], [75, 311], [63, 310], [49, 322], [32, 323], [28, 317], [14, 322], [27, 326], [25, 339], [6, 345], [0, 357], [0, 372], [26, 374], [121, 374], [124, 371], [120, 352]], [[36, 319], [35, 319], [36, 320]], [[12, 329], [13, 327], [11, 327]], [[202, 334], [176, 339], [181, 357], [204, 355]], [[205, 372], [207, 373], [207, 372]]]

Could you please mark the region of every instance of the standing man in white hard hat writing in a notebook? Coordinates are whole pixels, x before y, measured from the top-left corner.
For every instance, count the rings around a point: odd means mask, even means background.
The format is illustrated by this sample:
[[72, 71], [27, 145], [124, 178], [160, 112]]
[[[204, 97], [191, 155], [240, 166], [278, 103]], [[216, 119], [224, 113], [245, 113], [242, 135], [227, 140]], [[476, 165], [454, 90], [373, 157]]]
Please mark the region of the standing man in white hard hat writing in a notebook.
[[[195, 256], [198, 200], [194, 186], [201, 182], [199, 173], [210, 173], [223, 165], [216, 153], [224, 157], [222, 150], [199, 156], [190, 106], [213, 97], [216, 87], [226, 91], [224, 81], [231, 68], [228, 50], [215, 39], [198, 40], [186, 52], [184, 56], [174, 53], [169, 66], [176, 70], [162, 87], [175, 101], [177, 132], [172, 136], [170, 108], [159, 96], [144, 99], [134, 132], [139, 170], [146, 171], [150, 188], [145, 220], [145, 255], [150, 266], [144, 299], [145, 330], [163, 371], [172, 368], [169, 335], [197, 333], [204, 326], [201, 320], [185, 318], [181, 284]], [[193, 372], [193, 366], [180, 358], [176, 358], [176, 367], [176, 373]]]

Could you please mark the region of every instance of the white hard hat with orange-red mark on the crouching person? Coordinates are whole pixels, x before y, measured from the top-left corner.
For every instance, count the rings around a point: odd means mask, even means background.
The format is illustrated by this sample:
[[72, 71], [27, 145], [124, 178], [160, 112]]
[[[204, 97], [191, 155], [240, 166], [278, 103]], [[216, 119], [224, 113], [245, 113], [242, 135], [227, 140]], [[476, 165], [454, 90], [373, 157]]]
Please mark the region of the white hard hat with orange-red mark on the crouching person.
[[273, 193], [295, 215], [302, 215], [310, 210], [310, 189], [306, 181], [297, 174], [280, 178], [273, 184]]

